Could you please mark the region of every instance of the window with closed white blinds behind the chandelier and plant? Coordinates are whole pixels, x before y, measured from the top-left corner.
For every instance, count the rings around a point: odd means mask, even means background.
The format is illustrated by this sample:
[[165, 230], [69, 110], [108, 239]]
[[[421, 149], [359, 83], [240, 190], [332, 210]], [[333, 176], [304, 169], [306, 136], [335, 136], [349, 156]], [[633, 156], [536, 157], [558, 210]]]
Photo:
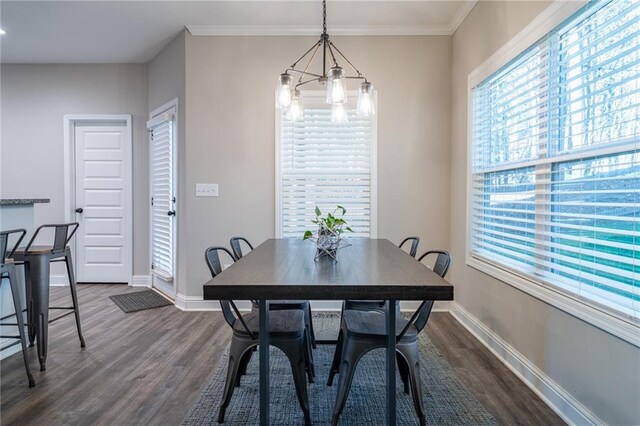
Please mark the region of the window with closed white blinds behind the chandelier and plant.
[[276, 234], [301, 238], [316, 205], [323, 213], [341, 205], [350, 236], [375, 237], [377, 115], [358, 117], [349, 93], [349, 122], [333, 123], [324, 91], [302, 96], [302, 120], [276, 118]]

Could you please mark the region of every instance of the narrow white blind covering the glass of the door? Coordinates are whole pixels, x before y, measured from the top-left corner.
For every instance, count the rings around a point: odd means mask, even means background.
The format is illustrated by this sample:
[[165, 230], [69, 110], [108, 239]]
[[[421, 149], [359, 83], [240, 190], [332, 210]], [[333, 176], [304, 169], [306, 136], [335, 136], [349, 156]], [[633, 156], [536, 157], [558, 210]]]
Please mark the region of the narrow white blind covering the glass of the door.
[[151, 268], [165, 280], [173, 277], [175, 212], [173, 114], [148, 123], [151, 135]]

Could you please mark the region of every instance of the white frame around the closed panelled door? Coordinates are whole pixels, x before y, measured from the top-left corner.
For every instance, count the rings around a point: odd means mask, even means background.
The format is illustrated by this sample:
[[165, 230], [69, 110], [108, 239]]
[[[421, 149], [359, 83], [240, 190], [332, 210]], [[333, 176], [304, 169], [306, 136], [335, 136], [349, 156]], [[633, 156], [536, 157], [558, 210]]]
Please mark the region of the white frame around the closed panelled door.
[[[76, 140], [75, 128], [79, 124], [117, 124], [124, 123], [125, 143], [128, 145], [124, 149], [125, 160], [129, 167], [123, 170], [124, 178], [129, 187], [129, 195], [126, 197], [125, 216], [127, 224], [123, 233], [125, 243], [128, 246], [127, 264], [128, 285], [133, 284], [133, 128], [131, 114], [65, 114], [62, 118], [64, 129], [64, 220], [65, 222], [75, 222], [76, 220]], [[71, 255], [77, 259], [77, 248], [75, 238], [69, 244]], [[74, 262], [74, 273], [78, 275], [78, 262]]]

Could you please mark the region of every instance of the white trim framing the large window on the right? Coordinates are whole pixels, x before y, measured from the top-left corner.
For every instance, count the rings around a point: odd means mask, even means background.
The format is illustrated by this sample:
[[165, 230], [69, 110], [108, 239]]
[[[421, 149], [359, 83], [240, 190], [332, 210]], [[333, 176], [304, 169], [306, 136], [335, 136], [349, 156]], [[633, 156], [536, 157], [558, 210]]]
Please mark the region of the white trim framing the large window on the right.
[[503, 281], [527, 294], [567, 312], [576, 318], [592, 324], [608, 333], [613, 334], [635, 346], [640, 347], [640, 333], [637, 325], [617, 317], [613, 313], [597, 309], [576, 297], [556, 291], [546, 285], [534, 282], [523, 276], [507, 271], [489, 262], [474, 257], [471, 253], [471, 229], [472, 229], [472, 152], [473, 152], [473, 106], [472, 90], [479, 83], [491, 76], [504, 65], [520, 55], [535, 42], [558, 25], [562, 24], [572, 14], [576, 13], [586, 2], [566, 2], [556, 0], [538, 15], [531, 23], [498, 49], [480, 66], [473, 70], [467, 78], [467, 194], [466, 194], [466, 265]]

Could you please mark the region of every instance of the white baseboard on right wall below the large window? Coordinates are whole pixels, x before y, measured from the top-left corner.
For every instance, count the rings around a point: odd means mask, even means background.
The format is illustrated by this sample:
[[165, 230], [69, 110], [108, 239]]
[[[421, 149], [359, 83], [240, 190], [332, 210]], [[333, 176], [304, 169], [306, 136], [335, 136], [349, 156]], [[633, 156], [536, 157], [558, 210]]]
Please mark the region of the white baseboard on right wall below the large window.
[[602, 420], [591, 413], [573, 395], [458, 303], [451, 302], [449, 312], [555, 411], [562, 420], [574, 425], [604, 425]]

